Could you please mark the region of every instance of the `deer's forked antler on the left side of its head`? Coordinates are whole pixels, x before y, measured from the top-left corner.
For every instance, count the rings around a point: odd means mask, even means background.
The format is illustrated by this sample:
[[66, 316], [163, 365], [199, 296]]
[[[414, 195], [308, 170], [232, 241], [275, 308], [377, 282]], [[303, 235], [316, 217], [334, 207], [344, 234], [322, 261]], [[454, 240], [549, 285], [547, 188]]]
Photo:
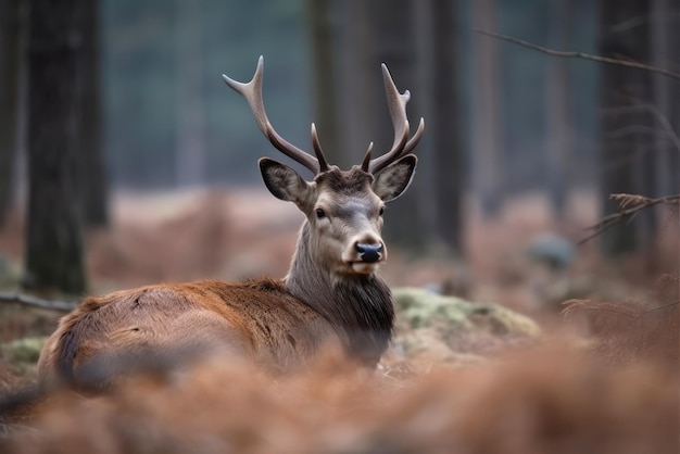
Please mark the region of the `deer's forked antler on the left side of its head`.
[[257, 70], [255, 70], [255, 74], [253, 78], [251, 79], [251, 81], [243, 84], [243, 83], [234, 80], [224, 74], [222, 75], [222, 78], [229, 87], [231, 87], [235, 91], [237, 91], [238, 93], [243, 96], [243, 98], [245, 98], [245, 100], [248, 101], [248, 105], [250, 105], [250, 110], [253, 112], [253, 115], [255, 116], [255, 121], [257, 122], [257, 126], [260, 127], [260, 130], [262, 131], [262, 134], [265, 135], [265, 137], [269, 140], [269, 142], [277, 150], [279, 150], [281, 153], [286, 154], [287, 156], [295, 160], [300, 164], [304, 165], [306, 168], [312, 171], [315, 175], [318, 174], [319, 161], [316, 160], [311, 154], [293, 146], [292, 143], [288, 142], [281, 136], [279, 136], [278, 133], [276, 133], [276, 130], [269, 123], [269, 119], [267, 118], [267, 113], [264, 110], [264, 101], [262, 99], [263, 71], [264, 71], [264, 58], [260, 55], [260, 60], [257, 61]]

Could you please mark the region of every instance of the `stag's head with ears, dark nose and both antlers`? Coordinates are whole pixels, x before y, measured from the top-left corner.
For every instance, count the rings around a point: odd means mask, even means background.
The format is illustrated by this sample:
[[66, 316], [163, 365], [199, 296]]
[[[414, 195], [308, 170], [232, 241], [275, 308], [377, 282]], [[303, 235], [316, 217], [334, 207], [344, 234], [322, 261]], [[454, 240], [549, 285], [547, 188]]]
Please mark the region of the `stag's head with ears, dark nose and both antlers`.
[[[387, 66], [382, 76], [394, 125], [394, 142], [390, 151], [372, 159], [373, 143], [361, 165], [341, 171], [329, 165], [312, 124], [313, 155], [280, 137], [269, 123], [262, 99], [263, 58], [252, 80], [242, 84], [223, 75], [229, 87], [241, 93], [269, 142], [284, 154], [314, 173], [312, 181], [291, 167], [268, 157], [259, 162], [264, 182], [276, 198], [293, 202], [306, 216], [308, 228], [303, 241], [316, 266], [332, 275], [368, 275], [387, 260], [387, 247], [380, 237], [385, 204], [401, 196], [413, 177], [417, 159], [410, 152], [418, 143], [425, 122], [410, 136], [406, 103], [411, 93], [399, 92]], [[306, 237], [306, 238], [305, 238]]]

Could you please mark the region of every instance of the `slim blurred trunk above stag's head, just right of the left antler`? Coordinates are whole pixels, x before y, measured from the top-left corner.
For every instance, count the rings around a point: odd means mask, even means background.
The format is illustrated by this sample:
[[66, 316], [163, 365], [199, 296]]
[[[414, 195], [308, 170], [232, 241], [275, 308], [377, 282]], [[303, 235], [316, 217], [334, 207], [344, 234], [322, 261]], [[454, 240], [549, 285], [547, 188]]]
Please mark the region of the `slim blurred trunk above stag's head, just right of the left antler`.
[[340, 143], [337, 80], [330, 0], [308, 0], [307, 22], [312, 43], [314, 80], [314, 122], [324, 153], [331, 164], [349, 168], [352, 156]]

